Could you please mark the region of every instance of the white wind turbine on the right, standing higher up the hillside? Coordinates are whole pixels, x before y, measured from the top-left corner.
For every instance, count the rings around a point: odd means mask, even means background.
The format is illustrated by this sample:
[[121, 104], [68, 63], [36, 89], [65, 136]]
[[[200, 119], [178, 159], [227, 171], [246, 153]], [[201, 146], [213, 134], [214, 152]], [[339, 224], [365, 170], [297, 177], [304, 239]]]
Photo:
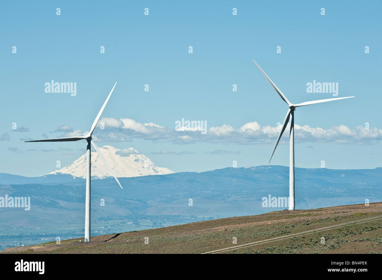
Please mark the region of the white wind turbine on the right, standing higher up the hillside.
[[[329, 98], [329, 99], [322, 99], [322, 100], [314, 100], [314, 101], [308, 101], [303, 102], [299, 104], [293, 104], [290, 103], [288, 99], [286, 99], [285, 95], [281, 92], [281, 90], [278, 89], [278, 87], [272, 82], [271, 79], [265, 74], [264, 71], [260, 68], [260, 66], [256, 63], [256, 61], [253, 60], [253, 62], [257, 65], [257, 67], [260, 69], [260, 71], [263, 73], [264, 77], [268, 80], [268, 82], [272, 85], [272, 87], [276, 90], [278, 95], [288, 104], [288, 112], [286, 113], [282, 129], [280, 131], [280, 134], [278, 134], [275, 147], [273, 148], [272, 155], [270, 156], [270, 160], [272, 159], [273, 154], [275, 153], [276, 147], [278, 142], [280, 141], [281, 135], [283, 134], [286, 125], [288, 124], [289, 117], [291, 116], [290, 120], [290, 132], [289, 132], [289, 209], [288, 210], [295, 210], [295, 110], [296, 107], [305, 106], [305, 105], [311, 105], [316, 103], [322, 103], [327, 101], [333, 101], [333, 100], [340, 100], [345, 98], [352, 98], [354, 96], [350, 97], [340, 97], [340, 98]], [[269, 164], [268, 163], [268, 164]]]

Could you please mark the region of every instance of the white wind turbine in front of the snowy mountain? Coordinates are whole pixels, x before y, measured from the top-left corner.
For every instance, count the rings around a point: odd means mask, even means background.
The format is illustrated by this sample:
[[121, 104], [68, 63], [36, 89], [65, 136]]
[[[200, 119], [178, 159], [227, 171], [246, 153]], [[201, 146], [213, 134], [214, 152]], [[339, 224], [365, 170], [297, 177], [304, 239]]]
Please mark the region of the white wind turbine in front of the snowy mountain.
[[[114, 87], [117, 83], [114, 84]], [[109, 93], [109, 96], [106, 98], [106, 101], [104, 105], [102, 105], [97, 117], [95, 118], [92, 127], [89, 131], [89, 133], [86, 136], [78, 136], [78, 137], [65, 137], [65, 138], [53, 138], [53, 139], [44, 139], [44, 140], [32, 140], [32, 141], [25, 141], [25, 142], [66, 142], [66, 141], [78, 141], [85, 139], [87, 141], [87, 151], [86, 151], [86, 199], [85, 199], [85, 240], [84, 241], [90, 241], [90, 144], [93, 145], [95, 151], [99, 154], [100, 158], [104, 161], [107, 168], [110, 170], [110, 172], [113, 174], [115, 180], [117, 180], [118, 185], [122, 188], [120, 182], [118, 181], [117, 177], [115, 176], [114, 171], [107, 163], [106, 159], [102, 155], [101, 151], [95, 145], [95, 143], [92, 140], [92, 133], [95, 129], [95, 126], [97, 125], [97, 122], [99, 121], [99, 118], [101, 117], [102, 111], [104, 111], [107, 101], [110, 98], [110, 95], [112, 95], [112, 92], [114, 90], [114, 87], [112, 91]]]

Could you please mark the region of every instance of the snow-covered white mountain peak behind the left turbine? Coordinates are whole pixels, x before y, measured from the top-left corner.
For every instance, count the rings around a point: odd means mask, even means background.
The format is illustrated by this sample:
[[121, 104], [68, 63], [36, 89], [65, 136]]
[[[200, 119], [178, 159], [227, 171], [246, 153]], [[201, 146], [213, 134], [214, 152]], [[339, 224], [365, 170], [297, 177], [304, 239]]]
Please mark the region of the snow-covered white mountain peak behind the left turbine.
[[[113, 146], [102, 146], [100, 150], [117, 177], [174, 173], [168, 168], [155, 166], [151, 159], [143, 154], [139, 154], [133, 148], [120, 150]], [[86, 178], [86, 154], [76, 159], [72, 164], [48, 174], [70, 174], [74, 177]], [[113, 176], [97, 152], [91, 153], [91, 176], [98, 177], [99, 179]]]

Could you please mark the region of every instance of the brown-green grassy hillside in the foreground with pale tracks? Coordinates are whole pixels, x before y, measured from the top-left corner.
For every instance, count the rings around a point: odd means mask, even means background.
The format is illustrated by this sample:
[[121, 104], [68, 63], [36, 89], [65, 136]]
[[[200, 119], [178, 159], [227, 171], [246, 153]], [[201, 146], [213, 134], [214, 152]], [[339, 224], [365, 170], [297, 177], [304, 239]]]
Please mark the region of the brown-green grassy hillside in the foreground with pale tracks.
[[[63, 240], [60, 245], [50, 242], [7, 248], [1, 253], [206, 253], [270, 238], [276, 239], [222, 253], [382, 253], [381, 215], [382, 203], [275, 211], [100, 235], [87, 243], [72, 239]], [[356, 223], [372, 217], [376, 218]], [[346, 222], [354, 224], [340, 225]], [[334, 225], [337, 226], [322, 229]], [[324, 231], [302, 233], [317, 229]], [[295, 233], [301, 234], [285, 238]], [[149, 244], [144, 243], [145, 237], [148, 237]], [[233, 244], [233, 237], [237, 238], [237, 244]], [[325, 244], [321, 244], [322, 237]]]

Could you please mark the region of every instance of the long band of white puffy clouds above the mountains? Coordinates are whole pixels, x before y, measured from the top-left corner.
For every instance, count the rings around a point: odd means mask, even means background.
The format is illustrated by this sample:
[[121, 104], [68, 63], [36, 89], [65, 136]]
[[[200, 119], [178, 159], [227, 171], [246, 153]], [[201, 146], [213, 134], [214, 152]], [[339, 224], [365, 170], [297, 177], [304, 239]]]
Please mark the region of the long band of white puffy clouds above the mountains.
[[[100, 126], [102, 124], [102, 128]], [[289, 124], [281, 139], [281, 143], [289, 142]], [[258, 122], [247, 122], [240, 128], [228, 124], [209, 127], [206, 134], [201, 131], [176, 131], [153, 122], [140, 123], [133, 119], [102, 117], [93, 133], [95, 141], [126, 142], [133, 139], [152, 140], [153, 142], [171, 142], [175, 144], [189, 144], [197, 142], [234, 143], [239, 145], [274, 145], [280, 132], [278, 127], [261, 126]], [[62, 137], [86, 135], [81, 130], [67, 131]], [[375, 144], [382, 140], [382, 130], [376, 127], [365, 129], [357, 126], [350, 129], [347, 126], [333, 126], [330, 129], [321, 127], [300, 126], [295, 124], [295, 142], [346, 143], [357, 145]], [[170, 151], [167, 151], [170, 152]]]

